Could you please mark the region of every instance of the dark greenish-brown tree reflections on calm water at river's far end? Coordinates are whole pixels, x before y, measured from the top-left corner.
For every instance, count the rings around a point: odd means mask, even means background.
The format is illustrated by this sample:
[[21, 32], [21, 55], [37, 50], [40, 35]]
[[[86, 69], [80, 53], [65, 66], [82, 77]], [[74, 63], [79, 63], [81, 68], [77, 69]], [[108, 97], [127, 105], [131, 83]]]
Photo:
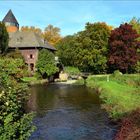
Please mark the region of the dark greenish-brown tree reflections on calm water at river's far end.
[[38, 113], [62, 107], [86, 110], [100, 103], [98, 95], [84, 86], [37, 86], [32, 87], [30, 92], [29, 108]]

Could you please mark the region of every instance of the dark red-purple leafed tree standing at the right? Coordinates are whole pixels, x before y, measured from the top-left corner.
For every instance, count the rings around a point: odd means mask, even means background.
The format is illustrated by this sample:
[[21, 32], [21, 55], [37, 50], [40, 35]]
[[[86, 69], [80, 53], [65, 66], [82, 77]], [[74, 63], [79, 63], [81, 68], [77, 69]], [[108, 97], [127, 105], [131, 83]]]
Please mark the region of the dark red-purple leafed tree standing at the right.
[[108, 59], [110, 72], [117, 69], [123, 73], [131, 72], [138, 60], [138, 37], [139, 35], [132, 28], [132, 25], [127, 23], [121, 24], [119, 28], [111, 32]]

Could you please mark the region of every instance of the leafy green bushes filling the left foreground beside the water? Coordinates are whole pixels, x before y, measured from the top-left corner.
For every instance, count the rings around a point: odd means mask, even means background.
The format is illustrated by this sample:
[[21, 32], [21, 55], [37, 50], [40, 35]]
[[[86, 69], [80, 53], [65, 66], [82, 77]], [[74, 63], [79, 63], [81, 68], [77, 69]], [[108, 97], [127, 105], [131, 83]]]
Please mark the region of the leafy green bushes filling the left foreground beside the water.
[[32, 113], [25, 113], [27, 85], [21, 82], [27, 71], [22, 59], [0, 58], [0, 139], [26, 140], [34, 130]]

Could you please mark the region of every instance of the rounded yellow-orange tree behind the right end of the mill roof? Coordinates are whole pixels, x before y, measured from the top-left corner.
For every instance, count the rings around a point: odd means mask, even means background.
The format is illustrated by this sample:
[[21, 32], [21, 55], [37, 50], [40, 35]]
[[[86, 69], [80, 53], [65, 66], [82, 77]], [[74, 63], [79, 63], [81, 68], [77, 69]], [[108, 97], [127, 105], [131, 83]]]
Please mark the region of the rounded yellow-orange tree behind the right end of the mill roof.
[[60, 28], [48, 25], [43, 34], [44, 40], [49, 42], [51, 45], [55, 45], [62, 38], [60, 35]]

